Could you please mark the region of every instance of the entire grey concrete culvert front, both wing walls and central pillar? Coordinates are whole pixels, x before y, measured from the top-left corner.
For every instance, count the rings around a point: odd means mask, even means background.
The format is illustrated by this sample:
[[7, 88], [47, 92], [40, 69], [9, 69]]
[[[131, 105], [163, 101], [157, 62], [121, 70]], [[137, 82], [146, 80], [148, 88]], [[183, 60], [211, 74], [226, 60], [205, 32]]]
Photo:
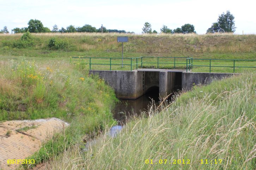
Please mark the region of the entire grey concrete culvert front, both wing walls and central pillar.
[[[233, 73], [194, 73], [159, 71], [106, 71], [91, 70], [111, 86], [120, 99], [136, 99], [145, 94], [151, 87], [159, 87], [160, 96], [164, 97], [179, 90], [190, 90], [193, 83], [206, 85], [214, 80], [230, 77]], [[143, 79], [144, 74], [144, 79]], [[143, 82], [144, 81], [144, 82]], [[143, 89], [144, 84], [144, 89]]]

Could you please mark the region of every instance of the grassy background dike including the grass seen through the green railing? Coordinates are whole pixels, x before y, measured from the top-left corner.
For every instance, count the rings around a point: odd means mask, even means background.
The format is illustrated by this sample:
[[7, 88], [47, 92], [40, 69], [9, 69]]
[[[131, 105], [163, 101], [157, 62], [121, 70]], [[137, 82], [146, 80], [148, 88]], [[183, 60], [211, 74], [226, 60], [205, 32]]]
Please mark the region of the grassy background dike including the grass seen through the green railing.
[[[233, 34], [111, 34], [111, 33], [40, 33], [32, 34], [28, 42], [21, 41], [22, 34], [0, 35], [0, 55], [26, 57], [121, 57], [122, 43], [117, 43], [116, 37], [125, 35], [129, 42], [124, 43], [124, 57], [160, 56], [160, 57], [193, 57], [211, 59], [256, 59], [256, 35]], [[55, 38], [56, 46], [49, 47], [49, 41]], [[145, 62], [156, 62], [146, 59]], [[161, 59], [159, 62], [173, 62], [173, 59]], [[176, 62], [186, 63], [185, 59]], [[89, 63], [89, 60], [86, 60]], [[93, 59], [92, 63], [109, 64], [108, 60]], [[120, 60], [112, 63], [121, 64]], [[125, 59], [125, 64], [130, 60]], [[136, 61], [133, 60], [133, 64]], [[209, 65], [209, 61], [194, 60], [194, 65]], [[212, 61], [212, 66], [233, 66], [232, 61]], [[156, 67], [156, 64], [144, 64], [144, 67]], [[236, 61], [236, 66], [255, 66], [255, 62]], [[185, 64], [176, 64], [184, 68]], [[93, 65], [92, 69], [109, 69], [109, 66]], [[133, 67], [135, 68], [135, 66]], [[173, 68], [173, 64], [160, 64], [160, 68]], [[112, 69], [122, 70], [120, 65]], [[126, 70], [130, 66], [125, 66]], [[255, 70], [255, 68], [236, 68], [236, 72]], [[208, 72], [209, 67], [194, 67], [193, 71]], [[213, 67], [212, 72], [233, 72], [231, 67]]]

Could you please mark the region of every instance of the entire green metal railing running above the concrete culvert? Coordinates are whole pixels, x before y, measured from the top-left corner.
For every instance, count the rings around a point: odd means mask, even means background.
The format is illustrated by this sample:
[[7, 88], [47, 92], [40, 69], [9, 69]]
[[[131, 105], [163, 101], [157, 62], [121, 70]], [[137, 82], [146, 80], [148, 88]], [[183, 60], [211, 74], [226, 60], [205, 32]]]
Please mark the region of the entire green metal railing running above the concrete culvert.
[[[233, 68], [233, 73], [235, 73], [235, 68], [256, 68], [255, 66], [236, 66], [237, 61], [253, 61], [256, 60], [243, 60], [243, 59], [196, 59], [196, 58], [187, 58], [187, 57], [133, 57], [133, 58], [123, 58], [125, 61], [123, 64], [121, 63], [122, 58], [114, 58], [114, 57], [71, 57], [71, 58], [79, 58], [79, 59], [87, 59], [88, 62], [84, 64], [88, 64], [90, 70], [92, 70], [93, 65], [109, 65], [109, 70], [113, 70], [113, 66], [128, 66], [129, 70], [132, 71], [135, 67], [138, 69], [139, 67], [143, 67], [143, 64], [155, 64], [156, 68], [159, 68], [164, 64], [173, 64], [173, 69], [177, 68], [177, 65], [183, 65], [186, 68], [186, 71], [190, 71], [191, 68], [195, 67], [209, 67], [209, 72], [211, 73], [213, 67], [231, 67]], [[70, 58], [70, 59], [71, 59]], [[186, 62], [183, 63], [186, 60]], [[95, 61], [96, 60], [96, 61]], [[152, 61], [155, 60], [155, 61]], [[163, 61], [164, 60], [164, 61]], [[193, 61], [209, 61], [209, 65], [195, 65]], [[221, 65], [212, 65], [212, 61], [228, 61], [232, 62], [232, 66], [221, 66]], [[195, 62], [194, 62], [195, 63]], [[182, 66], [182, 67], [183, 67]], [[120, 70], [120, 69], [118, 69]]]

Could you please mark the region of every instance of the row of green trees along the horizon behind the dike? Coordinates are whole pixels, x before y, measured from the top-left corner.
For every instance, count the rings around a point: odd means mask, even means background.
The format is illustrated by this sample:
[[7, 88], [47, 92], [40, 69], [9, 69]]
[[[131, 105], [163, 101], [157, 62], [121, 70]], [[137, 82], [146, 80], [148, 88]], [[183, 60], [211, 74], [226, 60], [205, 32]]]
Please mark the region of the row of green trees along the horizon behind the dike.
[[[236, 27], [234, 26], [234, 16], [230, 13], [230, 11], [226, 11], [226, 13], [222, 13], [219, 15], [217, 22], [213, 22], [211, 28], [218, 27], [222, 28], [225, 32], [234, 32], [236, 31]], [[116, 33], [134, 33], [134, 32], [126, 32], [125, 30], [108, 30], [106, 27], [96, 28], [89, 24], [85, 24], [82, 27], [75, 27], [74, 25], [69, 25], [66, 28], [59, 28], [57, 25], [53, 26], [53, 29], [50, 30], [48, 27], [44, 27], [40, 20], [29, 20], [28, 27], [22, 28], [14, 28], [12, 33], [47, 33], [47, 32], [60, 32], [60, 33], [73, 33], [73, 32], [116, 32]], [[4, 26], [3, 30], [0, 30], [0, 33], [9, 33], [6, 26]], [[145, 22], [144, 27], [142, 28], [142, 33], [158, 33], [156, 30], [152, 31], [151, 24], [149, 22]], [[170, 29], [166, 25], [160, 28], [160, 33], [196, 33], [195, 27], [192, 24], [184, 24], [181, 27], [176, 29]]]

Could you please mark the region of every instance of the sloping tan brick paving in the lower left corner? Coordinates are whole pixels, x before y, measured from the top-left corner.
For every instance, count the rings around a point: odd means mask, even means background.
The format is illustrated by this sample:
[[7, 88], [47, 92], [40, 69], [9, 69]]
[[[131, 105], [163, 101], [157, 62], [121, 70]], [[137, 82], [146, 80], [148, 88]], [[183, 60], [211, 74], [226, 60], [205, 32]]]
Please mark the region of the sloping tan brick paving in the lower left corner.
[[24, 159], [39, 150], [68, 124], [57, 118], [12, 120], [0, 123], [0, 169], [15, 169], [19, 164], [7, 164], [8, 159]]

